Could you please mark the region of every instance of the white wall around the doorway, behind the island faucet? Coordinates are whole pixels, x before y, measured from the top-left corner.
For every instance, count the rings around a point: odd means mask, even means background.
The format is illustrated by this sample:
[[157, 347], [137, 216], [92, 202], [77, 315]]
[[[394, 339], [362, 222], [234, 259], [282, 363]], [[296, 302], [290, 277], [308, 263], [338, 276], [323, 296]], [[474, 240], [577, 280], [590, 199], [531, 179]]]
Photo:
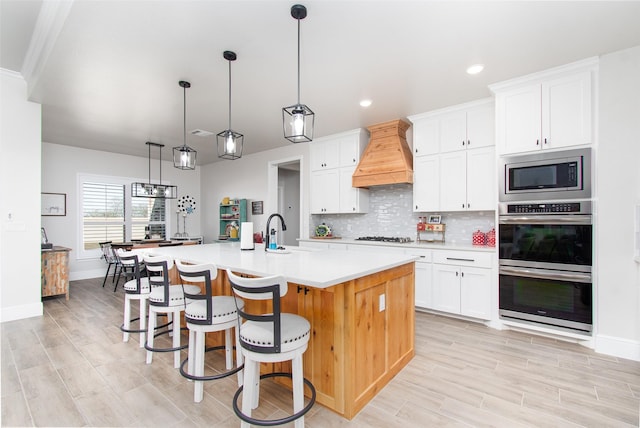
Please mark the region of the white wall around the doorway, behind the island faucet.
[[[225, 196], [247, 199], [247, 218], [253, 222], [255, 232], [265, 230], [269, 214], [278, 211], [277, 193], [270, 192], [270, 188], [277, 186], [277, 168], [270, 171], [269, 163], [293, 157], [304, 157], [301, 162], [300, 177], [303, 186], [303, 197], [300, 201], [304, 223], [303, 230], [308, 229], [309, 221], [309, 145], [290, 144], [260, 152], [245, 155], [234, 161], [220, 161], [202, 167], [202, 202], [204, 215], [202, 217], [202, 231], [205, 243], [218, 238], [220, 225], [218, 223], [218, 208]], [[251, 214], [251, 201], [263, 201], [262, 215]]]

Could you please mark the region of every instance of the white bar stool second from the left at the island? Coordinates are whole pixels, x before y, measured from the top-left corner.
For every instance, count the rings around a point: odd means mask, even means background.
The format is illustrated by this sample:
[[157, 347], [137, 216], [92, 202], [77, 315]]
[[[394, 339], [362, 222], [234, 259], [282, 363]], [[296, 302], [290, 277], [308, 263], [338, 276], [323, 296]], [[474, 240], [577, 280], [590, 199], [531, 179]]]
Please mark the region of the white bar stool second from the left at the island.
[[[173, 268], [173, 259], [167, 256], [144, 257], [144, 264], [147, 268], [147, 276], [151, 293], [149, 293], [149, 325], [147, 327], [147, 343], [144, 348], [147, 350], [147, 364], [153, 361], [154, 352], [173, 352], [173, 366], [180, 367], [180, 350], [187, 345], [180, 345], [180, 313], [187, 306], [185, 291], [188, 294], [199, 294], [200, 287], [197, 285], [171, 285], [169, 283], [169, 271]], [[153, 276], [153, 274], [157, 276]], [[155, 333], [156, 317], [158, 314], [166, 314], [171, 317], [172, 330]], [[161, 334], [173, 333], [173, 347], [154, 348], [153, 339]]]

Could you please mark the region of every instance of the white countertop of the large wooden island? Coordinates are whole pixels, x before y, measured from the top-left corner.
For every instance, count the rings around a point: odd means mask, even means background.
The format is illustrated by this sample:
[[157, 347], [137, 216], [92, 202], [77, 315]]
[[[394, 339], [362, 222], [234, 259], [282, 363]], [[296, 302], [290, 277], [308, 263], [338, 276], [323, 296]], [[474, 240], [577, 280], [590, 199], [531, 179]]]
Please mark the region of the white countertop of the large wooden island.
[[327, 288], [341, 282], [381, 272], [416, 260], [406, 254], [343, 252], [286, 247], [289, 253], [274, 254], [256, 244], [255, 250], [241, 250], [239, 242], [150, 248], [189, 263], [215, 263], [219, 269], [256, 276], [284, 275], [287, 282]]

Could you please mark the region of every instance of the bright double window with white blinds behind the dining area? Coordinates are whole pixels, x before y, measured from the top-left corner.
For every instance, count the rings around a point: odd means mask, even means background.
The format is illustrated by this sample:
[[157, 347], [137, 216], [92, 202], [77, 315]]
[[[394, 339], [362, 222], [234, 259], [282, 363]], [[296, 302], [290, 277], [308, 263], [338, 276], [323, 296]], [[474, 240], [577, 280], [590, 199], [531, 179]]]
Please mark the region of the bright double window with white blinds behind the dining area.
[[79, 230], [78, 258], [100, 256], [100, 242], [126, 242], [159, 235], [168, 236], [168, 204], [165, 199], [133, 198], [131, 183], [125, 177], [81, 174], [78, 179]]

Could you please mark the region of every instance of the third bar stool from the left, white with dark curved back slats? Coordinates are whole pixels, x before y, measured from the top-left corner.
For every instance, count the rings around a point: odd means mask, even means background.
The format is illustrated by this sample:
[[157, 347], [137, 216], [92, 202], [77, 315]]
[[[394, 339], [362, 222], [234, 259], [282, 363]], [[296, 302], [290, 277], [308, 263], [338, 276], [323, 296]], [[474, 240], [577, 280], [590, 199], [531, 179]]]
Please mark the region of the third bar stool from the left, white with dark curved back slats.
[[[222, 379], [238, 373], [238, 385], [242, 385], [242, 351], [238, 341], [238, 308], [244, 308], [244, 301], [233, 296], [214, 296], [211, 282], [218, 276], [218, 268], [213, 264], [185, 265], [175, 261], [181, 281], [204, 284], [205, 294], [189, 294], [185, 290], [185, 297], [191, 300], [184, 311], [184, 318], [189, 329], [189, 353], [180, 365], [180, 374], [194, 382], [193, 401], [199, 403], [203, 397], [203, 381]], [[237, 300], [237, 302], [236, 302]], [[236, 367], [233, 368], [233, 342], [231, 330], [235, 331]], [[213, 346], [205, 350], [205, 333], [224, 331], [225, 344]], [[205, 376], [205, 352], [225, 350], [226, 370], [223, 373]], [[187, 364], [187, 371], [184, 365]]]

